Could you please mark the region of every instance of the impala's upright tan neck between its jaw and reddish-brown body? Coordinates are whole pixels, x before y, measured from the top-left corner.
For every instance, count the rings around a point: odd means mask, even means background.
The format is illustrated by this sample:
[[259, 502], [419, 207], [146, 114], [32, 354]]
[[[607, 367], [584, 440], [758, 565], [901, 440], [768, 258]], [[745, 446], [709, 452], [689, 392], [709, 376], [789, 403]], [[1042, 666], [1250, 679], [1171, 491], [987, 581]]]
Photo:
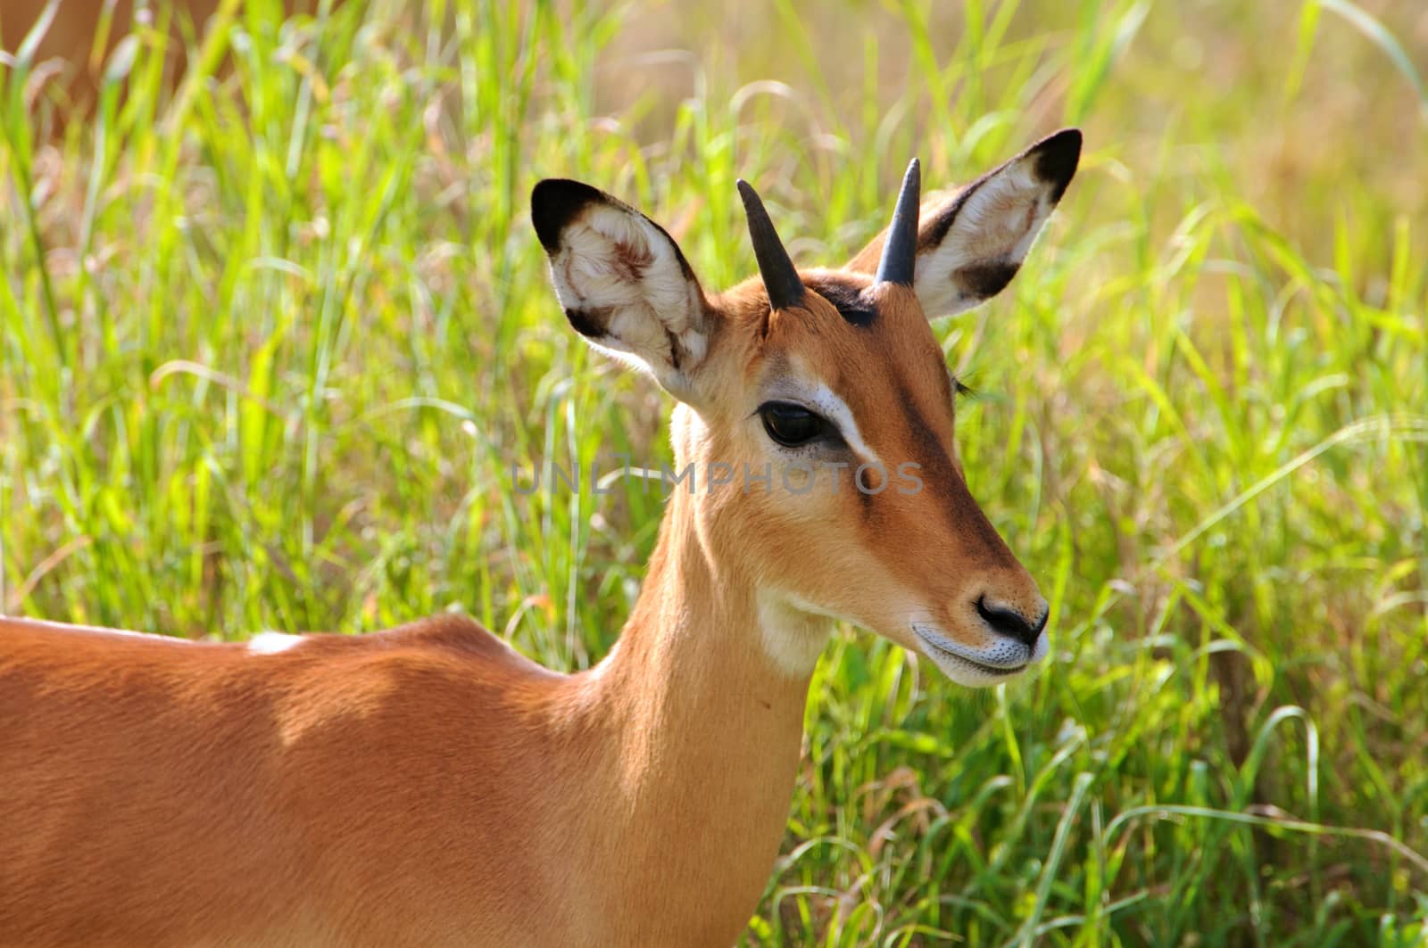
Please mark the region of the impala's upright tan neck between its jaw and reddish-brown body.
[[815, 648], [828, 622], [768, 607], [747, 565], [720, 554], [697, 511], [707, 500], [671, 495], [644, 590], [585, 697], [615, 744], [620, 864], [640, 867], [647, 881], [631, 882], [654, 887], [664, 911], [731, 925], [733, 941], [783, 839], [813, 672], [781, 664], [768, 637]]

